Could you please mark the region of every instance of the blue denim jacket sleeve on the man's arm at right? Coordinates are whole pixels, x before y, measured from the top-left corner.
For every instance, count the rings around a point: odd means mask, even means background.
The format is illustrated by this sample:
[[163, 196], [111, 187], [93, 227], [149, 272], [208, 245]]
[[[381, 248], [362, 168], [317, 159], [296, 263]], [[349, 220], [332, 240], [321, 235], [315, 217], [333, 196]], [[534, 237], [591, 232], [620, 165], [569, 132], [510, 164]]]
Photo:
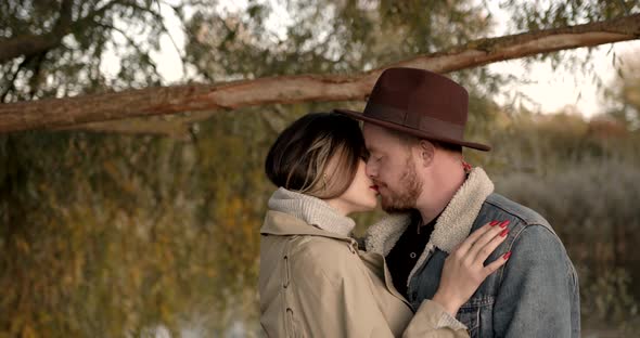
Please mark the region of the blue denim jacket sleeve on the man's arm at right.
[[577, 337], [577, 276], [560, 239], [543, 225], [512, 235], [494, 306], [496, 336]]

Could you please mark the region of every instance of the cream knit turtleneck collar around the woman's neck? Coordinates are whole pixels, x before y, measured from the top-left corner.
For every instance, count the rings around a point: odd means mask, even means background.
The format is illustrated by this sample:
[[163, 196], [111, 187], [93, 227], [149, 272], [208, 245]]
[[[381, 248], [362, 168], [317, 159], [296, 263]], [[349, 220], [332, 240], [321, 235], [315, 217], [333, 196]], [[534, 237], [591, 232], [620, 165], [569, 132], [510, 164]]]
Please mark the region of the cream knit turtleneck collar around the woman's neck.
[[349, 236], [356, 222], [324, 200], [279, 187], [269, 198], [269, 209], [284, 212], [324, 231]]

